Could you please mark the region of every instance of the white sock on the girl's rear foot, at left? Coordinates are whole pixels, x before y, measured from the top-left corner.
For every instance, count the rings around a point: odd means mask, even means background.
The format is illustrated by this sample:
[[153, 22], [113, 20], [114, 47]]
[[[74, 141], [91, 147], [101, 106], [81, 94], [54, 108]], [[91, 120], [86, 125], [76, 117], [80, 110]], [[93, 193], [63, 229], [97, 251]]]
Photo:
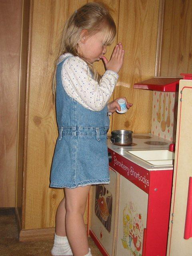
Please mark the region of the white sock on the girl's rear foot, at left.
[[54, 235], [54, 244], [51, 250], [53, 256], [72, 256], [72, 250], [70, 248], [68, 239], [66, 236]]

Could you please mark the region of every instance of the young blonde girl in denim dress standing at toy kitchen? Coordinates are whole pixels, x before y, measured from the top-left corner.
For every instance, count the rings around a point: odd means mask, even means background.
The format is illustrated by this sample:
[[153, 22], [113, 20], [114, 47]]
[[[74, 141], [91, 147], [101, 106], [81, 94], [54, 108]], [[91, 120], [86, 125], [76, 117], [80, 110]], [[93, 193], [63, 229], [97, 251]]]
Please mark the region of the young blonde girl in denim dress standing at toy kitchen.
[[[110, 61], [103, 54], [115, 34], [116, 26], [108, 9], [98, 3], [76, 10], [64, 28], [56, 88], [53, 82], [59, 136], [50, 186], [64, 188], [65, 198], [56, 213], [53, 256], [92, 255], [83, 215], [90, 186], [109, 183], [108, 114], [120, 110], [120, 106], [118, 99], [107, 102], [123, 64], [122, 44], [114, 48]], [[92, 66], [99, 60], [106, 66], [102, 78]]]

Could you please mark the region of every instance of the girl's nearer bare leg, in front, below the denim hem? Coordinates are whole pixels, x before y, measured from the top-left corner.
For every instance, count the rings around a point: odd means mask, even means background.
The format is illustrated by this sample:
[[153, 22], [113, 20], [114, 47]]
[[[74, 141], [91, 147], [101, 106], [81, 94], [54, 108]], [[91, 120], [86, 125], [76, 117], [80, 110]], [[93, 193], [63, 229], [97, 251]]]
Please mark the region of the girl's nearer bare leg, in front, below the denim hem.
[[88, 185], [64, 189], [66, 197], [66, 234], [75, 256], [84, 256], [89, 252], [83, 215], [90, 187]]

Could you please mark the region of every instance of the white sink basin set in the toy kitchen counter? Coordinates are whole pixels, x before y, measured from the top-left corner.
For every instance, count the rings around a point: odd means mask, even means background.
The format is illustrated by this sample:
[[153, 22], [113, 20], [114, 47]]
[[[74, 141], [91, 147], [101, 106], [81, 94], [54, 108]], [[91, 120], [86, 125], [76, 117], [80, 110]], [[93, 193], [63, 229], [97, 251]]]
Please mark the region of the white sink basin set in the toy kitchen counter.
[[173, 165], [175, 153], [169, 150], [126, 151], [153, 165]]

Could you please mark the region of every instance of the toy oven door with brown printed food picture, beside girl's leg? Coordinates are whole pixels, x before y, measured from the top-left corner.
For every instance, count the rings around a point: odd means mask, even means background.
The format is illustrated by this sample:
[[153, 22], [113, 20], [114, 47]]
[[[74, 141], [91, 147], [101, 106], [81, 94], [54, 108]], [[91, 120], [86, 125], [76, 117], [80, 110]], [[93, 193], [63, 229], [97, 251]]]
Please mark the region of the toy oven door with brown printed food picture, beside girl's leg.
[[96, 185], [93, 192], [91, 230], [110, 256], [115, 246], [118, 176], [110, 169], [110, 184]]

